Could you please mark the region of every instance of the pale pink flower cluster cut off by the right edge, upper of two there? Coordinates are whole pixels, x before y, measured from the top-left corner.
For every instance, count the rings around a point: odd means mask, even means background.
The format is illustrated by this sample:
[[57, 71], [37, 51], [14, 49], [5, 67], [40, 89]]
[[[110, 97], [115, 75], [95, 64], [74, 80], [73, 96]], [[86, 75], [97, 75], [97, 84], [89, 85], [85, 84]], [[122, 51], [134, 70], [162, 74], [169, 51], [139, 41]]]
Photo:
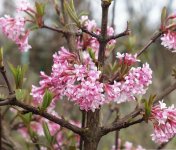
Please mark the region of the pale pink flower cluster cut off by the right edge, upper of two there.
[[168, 31], [161, 37], [161, 44], [170, 49], [172, 52], [176, 52], [176, 32]]

